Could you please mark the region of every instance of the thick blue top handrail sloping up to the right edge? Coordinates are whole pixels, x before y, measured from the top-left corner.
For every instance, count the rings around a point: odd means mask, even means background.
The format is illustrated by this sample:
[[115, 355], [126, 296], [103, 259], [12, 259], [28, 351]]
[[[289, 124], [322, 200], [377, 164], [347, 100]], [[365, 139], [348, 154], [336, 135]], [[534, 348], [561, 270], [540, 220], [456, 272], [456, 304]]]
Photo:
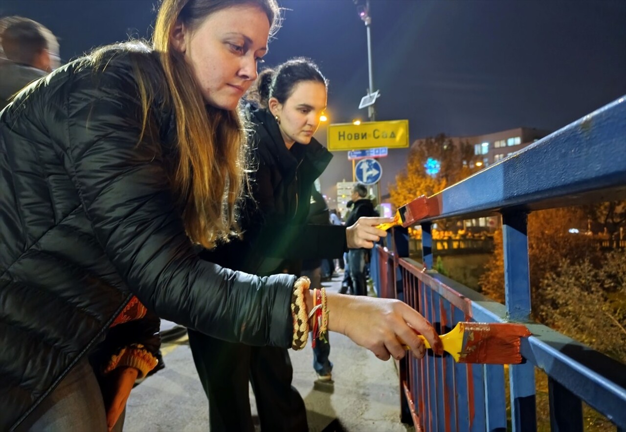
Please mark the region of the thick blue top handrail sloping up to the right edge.
[[429, 197], [421, 222], [626, 199], [625, 136], [626, 95]]

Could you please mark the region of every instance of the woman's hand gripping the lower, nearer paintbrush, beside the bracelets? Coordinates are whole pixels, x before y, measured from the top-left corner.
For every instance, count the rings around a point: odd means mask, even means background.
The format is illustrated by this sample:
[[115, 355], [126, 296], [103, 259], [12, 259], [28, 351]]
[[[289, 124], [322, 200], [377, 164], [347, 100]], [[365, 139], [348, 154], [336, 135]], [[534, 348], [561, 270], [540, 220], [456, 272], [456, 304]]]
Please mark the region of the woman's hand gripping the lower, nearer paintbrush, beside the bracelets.
[[418, 334], [426, 337], [437, 354], [443, 354], [434, 327], [404, 302], [335, 293], [328, 293], [327, 299], [329, 330], [345, 334], [381, 360], [403, 358], [406, 350], [401, 341], [415, 357], [424, 357], [426, 348]]

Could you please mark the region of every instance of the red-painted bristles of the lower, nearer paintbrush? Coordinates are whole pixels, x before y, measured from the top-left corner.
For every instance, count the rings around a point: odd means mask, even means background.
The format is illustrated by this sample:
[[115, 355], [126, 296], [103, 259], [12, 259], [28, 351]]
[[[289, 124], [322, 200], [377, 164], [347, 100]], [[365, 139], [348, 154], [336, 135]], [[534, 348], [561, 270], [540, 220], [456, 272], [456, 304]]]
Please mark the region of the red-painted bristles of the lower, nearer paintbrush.
[[520, 337], [530, 336], [521, 324], [463, 322], [459, 363], [519, 364]]

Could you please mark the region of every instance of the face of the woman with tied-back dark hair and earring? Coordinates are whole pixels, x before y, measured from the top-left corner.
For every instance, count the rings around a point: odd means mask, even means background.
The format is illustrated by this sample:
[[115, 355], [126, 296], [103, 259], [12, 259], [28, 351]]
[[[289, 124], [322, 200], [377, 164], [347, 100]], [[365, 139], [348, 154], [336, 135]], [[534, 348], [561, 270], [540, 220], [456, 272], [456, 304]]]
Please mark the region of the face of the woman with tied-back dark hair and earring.
[[279, 128], [287, 147], [308, 144], [326, 110], [326, 85], [318, 81], [301, 81], [294, 86], [284, 104], [270, 98], [269, 108], [280, 119]]

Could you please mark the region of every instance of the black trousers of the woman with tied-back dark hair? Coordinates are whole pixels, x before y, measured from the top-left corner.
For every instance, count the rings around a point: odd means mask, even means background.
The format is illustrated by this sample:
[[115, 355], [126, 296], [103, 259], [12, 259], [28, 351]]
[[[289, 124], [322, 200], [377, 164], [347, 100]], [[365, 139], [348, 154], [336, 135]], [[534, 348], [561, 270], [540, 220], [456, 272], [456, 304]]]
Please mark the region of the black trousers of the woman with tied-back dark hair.
[[208, 398], [211, 432], [254, 432], [249, 380], [262, 431], [309, 430], [304, 401], [291, 385], [294, 369], [287, 349], [233, 344], [193, 330], [188, 333]]

